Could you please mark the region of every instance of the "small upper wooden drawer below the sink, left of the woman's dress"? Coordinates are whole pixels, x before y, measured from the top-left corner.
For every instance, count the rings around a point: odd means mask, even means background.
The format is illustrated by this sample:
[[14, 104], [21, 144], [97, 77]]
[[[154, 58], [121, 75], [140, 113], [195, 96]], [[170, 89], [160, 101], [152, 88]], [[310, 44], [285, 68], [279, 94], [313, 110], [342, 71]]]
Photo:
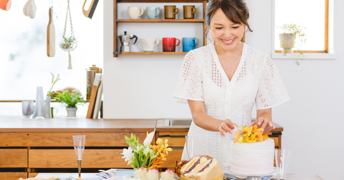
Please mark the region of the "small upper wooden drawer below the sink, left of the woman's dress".
[[168, 139], [170, 147], [184, 147], [187, 132], [159, 132], [161, 139]]

